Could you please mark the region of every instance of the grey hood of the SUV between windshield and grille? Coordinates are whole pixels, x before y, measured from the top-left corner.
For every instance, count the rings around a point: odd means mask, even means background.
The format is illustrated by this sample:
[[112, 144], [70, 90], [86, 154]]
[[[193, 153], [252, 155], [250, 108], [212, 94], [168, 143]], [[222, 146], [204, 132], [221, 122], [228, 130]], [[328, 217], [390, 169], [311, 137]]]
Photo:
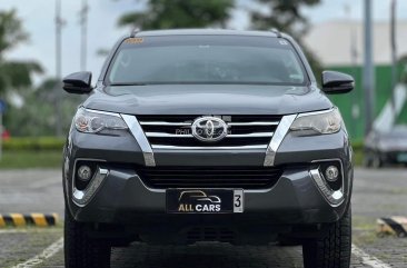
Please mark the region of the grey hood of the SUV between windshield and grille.
[[332, 103], [315, 87], [155, 85], [97, 88], [83, 106], [129, 115], [289, 115]]

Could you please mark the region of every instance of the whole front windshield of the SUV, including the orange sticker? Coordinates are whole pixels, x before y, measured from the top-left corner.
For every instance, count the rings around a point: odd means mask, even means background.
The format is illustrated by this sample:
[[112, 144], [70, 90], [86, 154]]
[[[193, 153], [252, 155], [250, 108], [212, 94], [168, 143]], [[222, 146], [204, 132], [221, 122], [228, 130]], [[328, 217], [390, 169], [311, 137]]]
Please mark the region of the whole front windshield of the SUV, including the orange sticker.
[[108, 83], [306, 83], [291, 44], [271, 37], [171, 36], [129, 38]]

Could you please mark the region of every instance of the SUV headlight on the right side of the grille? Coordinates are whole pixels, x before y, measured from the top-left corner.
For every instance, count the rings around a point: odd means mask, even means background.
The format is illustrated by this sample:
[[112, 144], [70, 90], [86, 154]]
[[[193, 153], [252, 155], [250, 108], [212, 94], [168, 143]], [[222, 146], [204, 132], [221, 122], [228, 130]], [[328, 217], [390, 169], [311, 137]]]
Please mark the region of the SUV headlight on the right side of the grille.
[[335, 133], [340, 130], [343, 118], [338, 108], [328, 111], [300, 113], [290, 130], [301, 136]]

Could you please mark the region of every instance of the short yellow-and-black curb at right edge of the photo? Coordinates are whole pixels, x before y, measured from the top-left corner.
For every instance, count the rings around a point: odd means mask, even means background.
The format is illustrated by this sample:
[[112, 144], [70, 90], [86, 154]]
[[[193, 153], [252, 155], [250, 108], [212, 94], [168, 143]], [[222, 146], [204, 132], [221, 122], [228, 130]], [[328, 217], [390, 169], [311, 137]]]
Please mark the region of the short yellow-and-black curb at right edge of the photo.
[[407, 237], [407, 218], [394, 216], [389, 218], [377, 219], [377, 235], [394, 235], [397, 237]]

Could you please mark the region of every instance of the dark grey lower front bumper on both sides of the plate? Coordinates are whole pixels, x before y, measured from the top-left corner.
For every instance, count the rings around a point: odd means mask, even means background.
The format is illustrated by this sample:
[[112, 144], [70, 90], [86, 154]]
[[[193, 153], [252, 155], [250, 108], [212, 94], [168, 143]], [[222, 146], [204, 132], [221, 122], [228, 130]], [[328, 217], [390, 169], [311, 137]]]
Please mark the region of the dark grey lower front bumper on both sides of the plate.
[[[77, 220], [131, 225], [148, 216], [177, 217], [166, 214], [166, 191], [149, 189], [135, 170], [103, 168], [109, 171], [90, 201], [85, 206], [71, 204]], [[286, 170], [271, 189], [245, 190], [245, 212], [234, 217], [252, 217], [256, 221], [264, 218], [268, 224], [332, 222], [346, 206], [329, 205], [309, 170], [298, 168]]]

